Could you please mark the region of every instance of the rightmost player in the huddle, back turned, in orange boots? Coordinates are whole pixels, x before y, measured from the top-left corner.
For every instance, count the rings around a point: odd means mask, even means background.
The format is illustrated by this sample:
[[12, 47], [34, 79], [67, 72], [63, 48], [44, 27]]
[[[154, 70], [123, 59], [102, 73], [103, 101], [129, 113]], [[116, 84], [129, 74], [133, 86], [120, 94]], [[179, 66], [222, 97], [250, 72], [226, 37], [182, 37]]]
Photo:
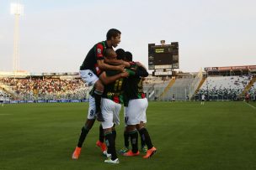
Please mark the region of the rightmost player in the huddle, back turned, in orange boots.
[[[132, 54], [130, 52], [125, 53], [126, 61], [132, 61]], [[142, 142], [147, 144], [147, 154], [143, 158], [152, 157], [157, 152], [156, 147], [153, 147], [151, 137], [145, 127], [147, 122], [147, 98], [143, 92], [142, 80], [143, 77], [147, 77], [148, 73], [146, 68], [140, 64], [135, 63], [131, 65], [136, 71], [135, 77], [129, 77], [125, 84], [125, 96], [128, 98], [128, 106], [125, 107], [125, 124], [127, 124], [126, 131], [131, 137], [132, 150], [125, 152], [124, 156], [131, 157], [139, 155], [138, 151], [138, 132], [141, 135]]]

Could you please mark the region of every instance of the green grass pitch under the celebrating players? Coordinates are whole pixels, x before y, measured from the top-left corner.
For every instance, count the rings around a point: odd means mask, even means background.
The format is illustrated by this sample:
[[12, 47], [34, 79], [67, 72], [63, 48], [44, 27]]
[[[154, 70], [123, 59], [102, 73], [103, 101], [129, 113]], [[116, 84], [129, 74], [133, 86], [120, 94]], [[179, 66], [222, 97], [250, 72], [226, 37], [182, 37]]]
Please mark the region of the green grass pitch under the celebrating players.
[[[256, 105], [150, 102], [147, 130], [157, 153], [104, 163], [99, 122], [72, 160], [88, 103], [0, 106], [0, 169], [256, 169]], [[123, 113], [116, 148], [123, 147]]]

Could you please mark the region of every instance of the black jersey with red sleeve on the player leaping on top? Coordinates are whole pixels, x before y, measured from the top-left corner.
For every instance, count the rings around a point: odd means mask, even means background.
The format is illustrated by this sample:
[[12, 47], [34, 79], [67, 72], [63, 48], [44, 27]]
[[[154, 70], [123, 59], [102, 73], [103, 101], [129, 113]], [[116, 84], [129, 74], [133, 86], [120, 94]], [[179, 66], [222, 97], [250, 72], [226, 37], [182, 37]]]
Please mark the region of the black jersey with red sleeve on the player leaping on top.
[[83, 60], [83, 64], [80, 66], [80, 70], [92, 70], [94, 74], [99, 75], [101, 73], [101, 70], [99, 70], [97, 60], [104, 59], [105, 49], [113, 48], [108, 47], [106, 41], [95, 44], [93, 48], [89, 50], [88, 54]]

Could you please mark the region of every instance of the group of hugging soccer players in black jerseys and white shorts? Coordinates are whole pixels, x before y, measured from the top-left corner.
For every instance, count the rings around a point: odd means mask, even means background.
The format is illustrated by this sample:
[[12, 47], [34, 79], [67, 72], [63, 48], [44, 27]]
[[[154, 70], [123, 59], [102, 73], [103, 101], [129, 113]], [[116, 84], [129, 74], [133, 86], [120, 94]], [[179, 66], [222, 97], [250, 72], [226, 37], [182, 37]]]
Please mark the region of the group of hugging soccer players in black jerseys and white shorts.
[[[90, 49], [80, 67], [82, 79], [88, 85], [92, 85], [93, 90], [89, 95], [88, 119], [82, 127], [77, 147], [72, 153], [73, 159], [78, 159], [88, 131], [97, 119], [101, 125], [99, 126], [99, 141], [96, 145], [107, 157], [104, 162], [120, 162], [115, 149], [115, 125], [120, 124], [121, 104], [125, 106], [125, 148], [120, 150], [120, 153], [125, 157], [140, 154], [138, 131], [141, 136], [141, 149], [146, 150], [143, 158], [152, 157], [157, 152], [145, 127], [148, 103], [143, 93], [142, 80], [148, 73], [141, 63], [132, 61], [130, 52], [113, 49], [120, 44], [120, 35], [119, 30], [109, 29], [107, 39]], [[131, 150], [129, 150], [129, 139]]]

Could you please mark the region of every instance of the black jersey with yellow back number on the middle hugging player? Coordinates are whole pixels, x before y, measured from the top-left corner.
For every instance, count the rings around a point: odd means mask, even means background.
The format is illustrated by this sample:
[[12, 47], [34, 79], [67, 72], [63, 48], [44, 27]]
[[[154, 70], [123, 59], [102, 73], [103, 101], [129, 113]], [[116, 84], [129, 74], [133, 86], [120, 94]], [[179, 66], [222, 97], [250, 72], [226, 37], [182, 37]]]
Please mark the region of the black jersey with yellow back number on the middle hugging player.
[[[107, 70], [106, 75], [112, 76], [119, 74], [119, 71]], [[124, 78], [115, 80], [113, 83], [104, 85], [103, 98], [115, 101], [115, 103], [123, 103]]]

